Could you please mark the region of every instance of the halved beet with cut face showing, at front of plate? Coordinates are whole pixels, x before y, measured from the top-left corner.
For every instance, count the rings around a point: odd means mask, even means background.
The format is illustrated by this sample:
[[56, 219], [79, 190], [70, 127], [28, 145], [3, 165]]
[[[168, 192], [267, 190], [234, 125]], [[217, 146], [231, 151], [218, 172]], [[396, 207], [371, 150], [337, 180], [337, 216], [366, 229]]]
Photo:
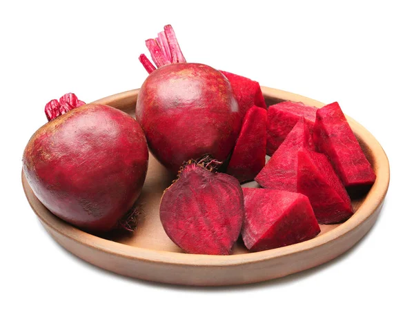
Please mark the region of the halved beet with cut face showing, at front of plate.
[[242, 229], [242, 187], [233, 176], [190, 162], [164, 192], [159, 216], [167, 235], [187, 253], [228, 255]]

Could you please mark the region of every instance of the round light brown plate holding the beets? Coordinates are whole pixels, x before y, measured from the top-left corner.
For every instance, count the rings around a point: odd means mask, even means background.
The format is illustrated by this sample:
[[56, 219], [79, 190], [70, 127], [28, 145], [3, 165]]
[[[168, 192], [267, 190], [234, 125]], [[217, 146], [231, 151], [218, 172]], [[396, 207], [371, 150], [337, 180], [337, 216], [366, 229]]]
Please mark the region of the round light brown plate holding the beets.
[[[262, 87], [268, 105], [281, 101], [300, 101], [317, 107], [323, 104], [281, 90]], [[135, 110], [137, 93], [132, 90], [108, 96], [94, 103], [117, 107], [130, 114]], [[150, 158], [148, 175], [139, 198], [141, 209], [138, 229], [126, 235], [110, 233], [106, 237], [83, 232], [51, 214], [34, 196], [22, 174], [23, 188], [43, 227], [64, 248], [97, 267], [132, 278], [188, 285], [246, 284], [280, 278], [310, 269], [350, 249], [371, 227], [384, 202], [389, 183], [388, 159], [380, 143], [362, 125], [348, 118], [353, 132], [370, 160], [377, 180], [371, 191], [353, 200], [355, 214], [340, 225], [322, 225], [322, 232], [299, 244], [248, 253], [237, 242], [231, 256], [207, 256], [182, 253], [166, 236], [159, 221], [159, 200], [174, 178]], [[350, 268], [351, 269], [351, 268]]]

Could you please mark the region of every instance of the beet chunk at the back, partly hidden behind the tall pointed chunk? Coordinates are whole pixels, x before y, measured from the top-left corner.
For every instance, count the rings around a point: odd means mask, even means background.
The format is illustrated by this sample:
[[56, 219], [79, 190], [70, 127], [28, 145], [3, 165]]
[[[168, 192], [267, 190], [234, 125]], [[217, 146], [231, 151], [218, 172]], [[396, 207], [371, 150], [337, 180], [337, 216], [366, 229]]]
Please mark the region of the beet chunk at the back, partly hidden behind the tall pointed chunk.
[[273, 155], [302, 116], [310, 123], [312, 132], [316, 111], [316, 107], [290, 101], [271, 105], [268, 109], [267, 154]]

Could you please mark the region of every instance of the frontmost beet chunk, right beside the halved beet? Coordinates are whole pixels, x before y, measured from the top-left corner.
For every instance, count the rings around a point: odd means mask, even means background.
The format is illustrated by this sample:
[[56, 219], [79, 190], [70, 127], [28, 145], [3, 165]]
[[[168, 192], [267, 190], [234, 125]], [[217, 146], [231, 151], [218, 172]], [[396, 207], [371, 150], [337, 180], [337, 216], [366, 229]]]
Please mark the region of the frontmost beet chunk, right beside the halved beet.
[[244, 245], [261, 251], [310, 240], [320, 232], [311, 203], [302, 194], [243, 188]]

